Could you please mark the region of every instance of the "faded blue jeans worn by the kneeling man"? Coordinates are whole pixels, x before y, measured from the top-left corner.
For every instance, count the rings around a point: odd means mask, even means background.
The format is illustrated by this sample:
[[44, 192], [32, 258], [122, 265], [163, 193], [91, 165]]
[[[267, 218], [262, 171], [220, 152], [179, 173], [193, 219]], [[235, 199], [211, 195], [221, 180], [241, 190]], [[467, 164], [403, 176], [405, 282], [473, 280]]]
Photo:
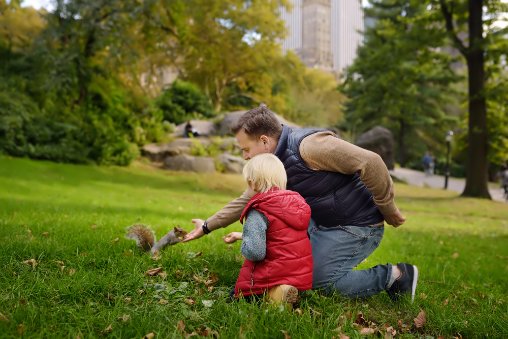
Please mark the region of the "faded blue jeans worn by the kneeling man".
[[312, 244], [312, 289], [362, 298], [388, 289], [392, 264], [353, 271], [379, 246], [384, 226], [323, 227], [313, 220], [307, 229]]

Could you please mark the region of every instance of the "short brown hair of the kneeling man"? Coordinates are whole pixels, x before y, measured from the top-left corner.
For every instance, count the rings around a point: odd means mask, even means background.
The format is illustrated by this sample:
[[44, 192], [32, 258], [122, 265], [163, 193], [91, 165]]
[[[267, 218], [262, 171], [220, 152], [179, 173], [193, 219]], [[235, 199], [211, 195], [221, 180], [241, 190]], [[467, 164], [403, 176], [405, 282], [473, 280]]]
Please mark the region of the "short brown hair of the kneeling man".
[[243, 113], [231, 125], [231, 134], [236, 135], [241, 129], [252, 141], [259, 140], [262, 135], [278, 140], [282, 133], [282, 125], [268, 107], [255, 107]]

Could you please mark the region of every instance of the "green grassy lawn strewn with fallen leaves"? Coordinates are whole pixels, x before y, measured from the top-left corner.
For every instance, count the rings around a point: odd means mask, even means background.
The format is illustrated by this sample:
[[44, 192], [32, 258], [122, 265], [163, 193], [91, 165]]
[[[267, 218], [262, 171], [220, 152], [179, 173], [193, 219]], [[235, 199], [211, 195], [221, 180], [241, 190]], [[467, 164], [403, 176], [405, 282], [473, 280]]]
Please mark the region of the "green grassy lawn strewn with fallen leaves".
[[[0, 313], [9, 319], [0, 316], [0, 337], [142, 338], [153, 332], [183, 338], [178, 321], [187, 333], [209, 327], [221, 338], [239, 337], [242, 325], [245, 338], [282, 339], [280, 330], [294, 339], [332, 338], [338, 326], [350, 338], [377, 337], [361, 335], [354, 317], [340, 318], [348, 311], [390, 324], [396, 338], [508, 337], [507, 204], [397, 183], [396, 203], [408, 220], [398, 229], [388, 226], [358, 268], [418, 265], [415, 302], [393, 304], [386, 293], [348, 300], [307, 292], [296, 306], [302, 314], [226, 302], [242, 261], [240, 243], [228, 249], [221, 237], [241, 231], [239, 223], [176, 244], [159, 260], [123, 237], [134, 223], [151, 225], [157, 237], [176, 225], [190, 231], [190, 219], [209, 217], [243, 190], [238, 175], [0, 156]], [[29, 259], [36, 260], [34, 268], [23, 263]], [[165, 279], [143, 274], [159, 266]], [[218, 281], [209, 291], [201, 280], [212, 272]], [[427, 322], [416, 328], [413, 319], [422, 310]], [[123, 321], [123, 315], [130, 317]], [[400, 331], [399, 320], [409, 329]]]

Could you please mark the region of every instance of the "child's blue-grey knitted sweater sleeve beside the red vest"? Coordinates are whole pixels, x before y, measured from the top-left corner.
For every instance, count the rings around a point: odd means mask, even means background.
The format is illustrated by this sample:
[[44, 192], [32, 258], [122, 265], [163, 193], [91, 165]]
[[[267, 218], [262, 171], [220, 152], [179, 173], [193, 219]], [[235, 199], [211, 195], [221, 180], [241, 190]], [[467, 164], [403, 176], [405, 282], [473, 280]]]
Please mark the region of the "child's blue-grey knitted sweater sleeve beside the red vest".
[[242, 232], [242, 255], [250, 261], [261, 261], [266, 256], [266, 229], [268, 218], [257, 209], [251, 209], [245, 218]]

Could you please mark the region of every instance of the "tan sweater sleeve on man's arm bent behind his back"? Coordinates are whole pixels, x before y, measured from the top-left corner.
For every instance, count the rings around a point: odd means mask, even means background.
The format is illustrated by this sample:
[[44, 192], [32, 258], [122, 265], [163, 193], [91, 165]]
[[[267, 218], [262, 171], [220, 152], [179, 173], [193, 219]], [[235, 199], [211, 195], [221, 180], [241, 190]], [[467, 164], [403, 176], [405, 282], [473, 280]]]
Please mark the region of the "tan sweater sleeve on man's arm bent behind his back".
[[395, 213], [395, 188], [385, 163], [376, 153], [339, 139], [331, 132], [319, 132], [300, 143], [303, 162], [316, 171], [360, 174], [384, 215]]

